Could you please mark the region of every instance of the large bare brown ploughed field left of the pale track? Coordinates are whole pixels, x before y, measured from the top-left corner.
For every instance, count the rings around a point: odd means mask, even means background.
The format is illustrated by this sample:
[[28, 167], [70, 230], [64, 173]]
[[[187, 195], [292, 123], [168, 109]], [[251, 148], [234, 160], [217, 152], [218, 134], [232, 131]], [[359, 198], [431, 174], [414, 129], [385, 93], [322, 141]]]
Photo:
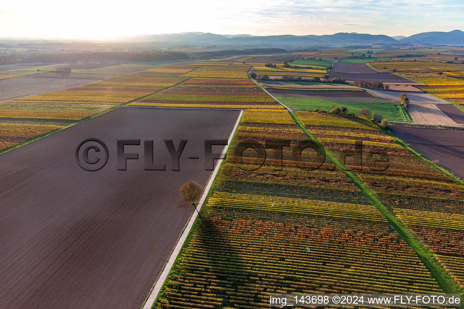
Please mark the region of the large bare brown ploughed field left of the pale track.
[[[193, 212], [173, 192], [187, 180], [205, 185], [211, 174], [188, 157], [202, 158], [204, 139], [227, 139], [238, 114], [119, 107], [1, 155], [8, 233], [0, 244], [0, 308], [139, 309]], [[74, 157], [88, 137], [109, 149], [96, 172]], [[116, 170], [121, 138], [154, 140], [155, 162], [166, 170], [144, 170], [143, 145], [126, 146], [140, 159]], [[176, 147], [188, 140], [179, 172], [171, 171], [163, 139]]]

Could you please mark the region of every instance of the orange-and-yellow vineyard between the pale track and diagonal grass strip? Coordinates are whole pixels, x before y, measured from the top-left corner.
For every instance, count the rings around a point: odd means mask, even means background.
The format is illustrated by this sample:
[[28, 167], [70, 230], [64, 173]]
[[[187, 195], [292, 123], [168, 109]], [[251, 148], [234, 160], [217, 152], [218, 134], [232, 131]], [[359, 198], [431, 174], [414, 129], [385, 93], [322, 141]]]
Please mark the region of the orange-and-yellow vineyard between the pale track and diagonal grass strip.
[[247, 171], [260, 160], [254, 152], [237, 156], [240, 143], [263, 139], [308, 141], [286, 110], [244, 112], [154, 308], [268, 308], [275, 292], [440, 291], [383, 215], [329, 162], [302, 170], [284, 151], [282, 167], [270, 155]]

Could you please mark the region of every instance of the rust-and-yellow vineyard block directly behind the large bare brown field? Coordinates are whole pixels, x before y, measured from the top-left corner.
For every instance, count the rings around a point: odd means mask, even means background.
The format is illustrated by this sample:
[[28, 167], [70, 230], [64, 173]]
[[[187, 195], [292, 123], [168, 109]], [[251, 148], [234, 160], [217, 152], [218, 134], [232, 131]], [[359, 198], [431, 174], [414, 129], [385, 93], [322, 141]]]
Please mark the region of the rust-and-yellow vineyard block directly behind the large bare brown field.
[[192, 78], [130, 103], [137, 106], [284, 108], [249, 79]]

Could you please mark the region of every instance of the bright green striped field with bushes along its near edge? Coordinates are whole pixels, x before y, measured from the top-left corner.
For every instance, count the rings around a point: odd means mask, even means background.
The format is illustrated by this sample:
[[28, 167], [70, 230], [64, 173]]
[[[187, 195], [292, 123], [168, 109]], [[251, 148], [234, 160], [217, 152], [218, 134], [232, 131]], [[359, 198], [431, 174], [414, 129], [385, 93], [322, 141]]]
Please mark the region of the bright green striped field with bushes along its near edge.
[[329, 101], [294, 97], [277, 97], [277, 100], [291, 109], [303, 111], [312, 111], [316, 108], [329, 111], [332, 105], [336, 104], [339, 107], [348, 107], [348, 113], [355, 113], [358, 116], [360, 115], [358, 114], [359, 110], [362, 107], [367, 107], [372, 110], [372, 114], [380, 113], [387, 120], [412, 122], [411, 116], [406, 111], [406, 108], [395, 103]]

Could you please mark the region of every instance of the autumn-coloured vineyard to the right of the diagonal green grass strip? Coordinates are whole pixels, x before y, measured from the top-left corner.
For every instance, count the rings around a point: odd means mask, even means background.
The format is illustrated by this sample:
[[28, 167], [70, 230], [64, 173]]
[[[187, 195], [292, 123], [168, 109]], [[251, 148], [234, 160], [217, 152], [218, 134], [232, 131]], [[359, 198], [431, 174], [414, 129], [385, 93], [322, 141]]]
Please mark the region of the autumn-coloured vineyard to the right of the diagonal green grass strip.
[[[343, 150], [354, 150], [354, 141], [374, 142], [370, 145], [363, 142], [365, 144], [363, 158], [364, 156], [368, 158], [372, 153], [387, 156], [388, 168], [372, 170], [368, 164], [362, 164], [362, 167], [354, 166], [351, 172], [378, 196], [385, 207], [391, 209], [406, 228], [417, 235], [425, 247], [435, 254], [436, 259], [450, 272], [451, 277], [464, 288], [464, 280], [462, 277], [458, 279], [462, 273], [460, 270], [464, 267], [462, 264], [464, 187], [418, 155], [404, 149], [393, 137], [369, 120], [359, 119], [354, 122], [329, 114], [296, 113], [309, 132], [341, 160], [344, 156]], [[403, 137], [406, 141], [414, 142], [412, 129], [415, 128], [405, 128], [406, 133]], [[443, 143], [441, 145], [447, 147], [442, 147], [441, 150], [434, 149], [438, 160], [451, 163], [460, 157], [454, 162], [462, 161], [463, 150], [459, 148], [463, 145], [463, 137], [462, 135], [458, 137], [453, 132], [463, 134], [464, 131], [445, 131], [448, 137], [445, 137], [443, 130], [436, 130], [435, 137], [427, 138], [427, 134], [433, 134], [427, 131], [421, 135], [423, 139], [417, 139], [416, 142], [423, 143], [424, 148], [431, 147], [431, 149], [434, 148], [434, 144]], [[411, 139], [408, 139], [408, 136]], [[424, 148], [423, 151], [427, 153]], [[457, 168], [456, 165], [454, 163], [455, 170], [463, 166], [459, 164]]]

